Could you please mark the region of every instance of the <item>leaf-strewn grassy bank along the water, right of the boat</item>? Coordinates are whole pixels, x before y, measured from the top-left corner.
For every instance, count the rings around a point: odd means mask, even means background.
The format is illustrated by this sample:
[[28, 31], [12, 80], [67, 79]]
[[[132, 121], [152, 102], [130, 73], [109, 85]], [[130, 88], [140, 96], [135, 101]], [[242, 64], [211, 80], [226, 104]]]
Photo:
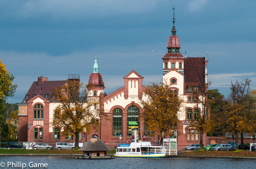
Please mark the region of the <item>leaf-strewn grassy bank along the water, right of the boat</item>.
[[189, 151], [182, 155], [190, 156], [234, 156], [234, 157], [256, 157], [255, 151]]

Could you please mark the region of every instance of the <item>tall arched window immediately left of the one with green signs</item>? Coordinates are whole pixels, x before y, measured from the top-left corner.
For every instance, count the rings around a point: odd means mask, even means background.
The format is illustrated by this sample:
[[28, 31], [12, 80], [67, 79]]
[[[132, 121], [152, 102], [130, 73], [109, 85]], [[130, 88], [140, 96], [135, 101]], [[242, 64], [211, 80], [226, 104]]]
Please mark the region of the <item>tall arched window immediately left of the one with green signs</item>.
[[114, 109], [113, 111], [113, 134], [112, 136], [119, 136], [122, 134], [122, 110]]

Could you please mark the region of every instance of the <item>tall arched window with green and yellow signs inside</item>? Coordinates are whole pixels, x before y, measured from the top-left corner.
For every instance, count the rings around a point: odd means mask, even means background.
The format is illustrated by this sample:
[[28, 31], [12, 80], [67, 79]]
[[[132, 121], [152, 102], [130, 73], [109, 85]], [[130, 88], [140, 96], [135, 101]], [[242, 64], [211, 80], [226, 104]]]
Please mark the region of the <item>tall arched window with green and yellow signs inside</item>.
[[139, 109], [134, 106], [127, 110], [127, 136], [132, 136], [133, 128], [140, 128], [139, 115]]

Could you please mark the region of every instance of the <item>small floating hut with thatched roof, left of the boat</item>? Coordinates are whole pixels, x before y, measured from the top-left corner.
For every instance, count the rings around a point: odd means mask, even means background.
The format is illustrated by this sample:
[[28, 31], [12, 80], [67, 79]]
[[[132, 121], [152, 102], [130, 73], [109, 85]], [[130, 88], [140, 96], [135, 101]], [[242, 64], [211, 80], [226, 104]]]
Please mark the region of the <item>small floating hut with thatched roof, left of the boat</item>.
[[84, 156], [106, 156], [110, 148], [97, 136], [93, 136], [79, 151], [84, 151]]

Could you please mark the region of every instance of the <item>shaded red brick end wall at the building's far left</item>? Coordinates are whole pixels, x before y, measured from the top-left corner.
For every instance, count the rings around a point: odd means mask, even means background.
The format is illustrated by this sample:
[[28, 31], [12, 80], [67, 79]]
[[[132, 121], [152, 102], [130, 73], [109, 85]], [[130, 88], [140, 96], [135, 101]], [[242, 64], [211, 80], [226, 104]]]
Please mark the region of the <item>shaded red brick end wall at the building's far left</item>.
[[19, 141], [28, 141], [28, 116], [18, 115], [19, 119]]

